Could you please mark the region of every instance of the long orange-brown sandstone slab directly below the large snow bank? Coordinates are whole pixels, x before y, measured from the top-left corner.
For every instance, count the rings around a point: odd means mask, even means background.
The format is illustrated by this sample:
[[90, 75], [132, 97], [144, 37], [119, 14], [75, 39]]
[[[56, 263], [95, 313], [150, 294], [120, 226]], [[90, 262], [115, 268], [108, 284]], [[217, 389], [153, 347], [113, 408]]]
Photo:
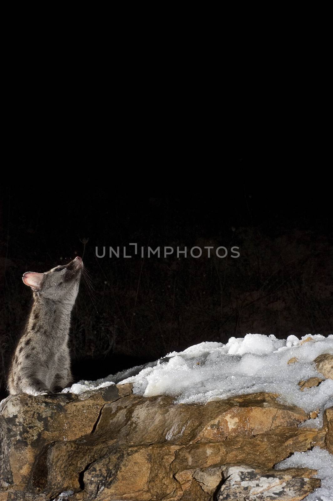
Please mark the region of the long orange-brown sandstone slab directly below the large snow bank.
[[276, 396], [257, 393], [205, 405], [174, 405], [172, 397], [130, 395], [103, 407], [95, 436], [107, 433], [133, 445], [164, 441], [185, 445], [252, 436], [281, 425], [295, 427], [308, 417], [302, 409], [279, 404]]

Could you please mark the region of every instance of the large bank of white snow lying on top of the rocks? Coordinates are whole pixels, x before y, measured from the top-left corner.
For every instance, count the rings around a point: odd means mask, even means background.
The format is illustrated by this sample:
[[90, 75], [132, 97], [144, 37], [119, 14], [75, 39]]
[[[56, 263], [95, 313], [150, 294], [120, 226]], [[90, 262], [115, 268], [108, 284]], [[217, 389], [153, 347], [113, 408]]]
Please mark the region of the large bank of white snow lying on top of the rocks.
[[[305, 424], [318, 427], [322, 410], [333, 406], [333, 380], [326, 379], [319, 386], [303, 391], [297, 383], [322, 377], [313, 363], [322, 353], [333, 354], [333, 335], [309, 334], [301, 339], [291, 335], [280, 340], [272, 334], [246, 334], [244, 338], [232, 337], [226, 344], [204, 342], [179, 353], [172, 352], [155, 366], [135, 368], [136, 375], [124, 371], [117, 382], [133, 383], [135, 394], [171, 395], [178, 403], [205, 403], [261, 391], [277, 393], [281, 403], [297, 405], [306, 412], [320, 409], [318, 418]], [[295, 361], [288, 364], [290, 359]], [[115, 381], [112, 375], [96, 382], [80, 381], [64, 392], [80, 394]]]

